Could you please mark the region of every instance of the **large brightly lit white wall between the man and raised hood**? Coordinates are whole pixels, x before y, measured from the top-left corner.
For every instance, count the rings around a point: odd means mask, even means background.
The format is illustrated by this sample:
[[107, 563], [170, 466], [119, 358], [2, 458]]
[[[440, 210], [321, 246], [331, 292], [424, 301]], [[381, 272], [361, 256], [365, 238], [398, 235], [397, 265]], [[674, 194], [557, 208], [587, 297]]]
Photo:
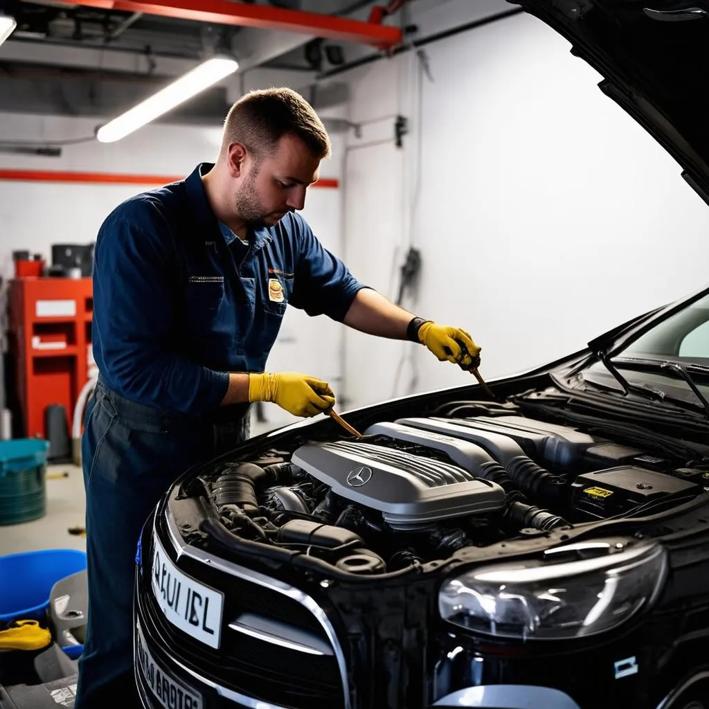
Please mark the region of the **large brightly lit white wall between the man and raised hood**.
[[[415, 22], [425, 36], [479, 9], [448, 0]], [[350, 137], [345, 255], [357, 276], [395, 296], [411, 240], [423, 271], [404, 305], [467, 329], [488, 377], [562, 357], [709, 281], [707, 207], [559, 35], [518, 15], [425, 52], [420, 120], [413, 52], [337, 77], [352, 86], [350, 120], [401, 112], [412, 128], [403, 150], [352, 150], [391, 135], [391, 121]], [[423, 348], [360, 333], [347, 332], [345, 353], [352, 406], [470, 379]]]

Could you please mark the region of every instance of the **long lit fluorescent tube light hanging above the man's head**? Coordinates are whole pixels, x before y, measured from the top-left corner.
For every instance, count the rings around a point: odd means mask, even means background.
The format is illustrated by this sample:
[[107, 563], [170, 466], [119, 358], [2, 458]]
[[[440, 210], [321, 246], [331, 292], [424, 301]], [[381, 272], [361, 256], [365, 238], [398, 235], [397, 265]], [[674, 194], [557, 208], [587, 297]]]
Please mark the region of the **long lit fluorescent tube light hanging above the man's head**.
[[155, 121], [155, 118], [159, 118], [163, 113], [172, 111], [173, 108], [191, 99], [192, 96], [196, 96], [200, 91], [220, 82], [238, 68], [238, 62], [233, 59], [213, 57], [187, 72], [176, 82], [165, 86], [149, 99], [145, 99], [143, 103], [130, 108], [130, 111], [126, 111], [118, 118], [114, 118], [113, 121], [102, 125], [96, 131], [96, 138], [101, 143], [113, 143], [115, 140], [121, 140], [146, 123]]

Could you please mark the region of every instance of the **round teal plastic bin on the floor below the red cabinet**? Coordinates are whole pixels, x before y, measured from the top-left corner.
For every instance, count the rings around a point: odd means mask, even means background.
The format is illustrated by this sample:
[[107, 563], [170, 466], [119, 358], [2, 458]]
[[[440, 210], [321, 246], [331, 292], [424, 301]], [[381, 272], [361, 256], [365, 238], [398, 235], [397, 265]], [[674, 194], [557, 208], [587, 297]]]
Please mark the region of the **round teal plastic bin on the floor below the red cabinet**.
[[0, 441], [0, 525], [45, 515], [48, 452], [49, 441], [39, 438]]

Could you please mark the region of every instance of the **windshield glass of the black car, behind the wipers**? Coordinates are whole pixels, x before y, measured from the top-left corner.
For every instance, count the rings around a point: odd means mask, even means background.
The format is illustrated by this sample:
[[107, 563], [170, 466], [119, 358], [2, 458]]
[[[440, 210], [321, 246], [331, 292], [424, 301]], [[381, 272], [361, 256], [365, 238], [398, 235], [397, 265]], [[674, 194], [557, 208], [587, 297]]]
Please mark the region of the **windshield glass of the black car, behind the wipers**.
[[659, 323], [619, 356], [709, 365], [709, 296]]

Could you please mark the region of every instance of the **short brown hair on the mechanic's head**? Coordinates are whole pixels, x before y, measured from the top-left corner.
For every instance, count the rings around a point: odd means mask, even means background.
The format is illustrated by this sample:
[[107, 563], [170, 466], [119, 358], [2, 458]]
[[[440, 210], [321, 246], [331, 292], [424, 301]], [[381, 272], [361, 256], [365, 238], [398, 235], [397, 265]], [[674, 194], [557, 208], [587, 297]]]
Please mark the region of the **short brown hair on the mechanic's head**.
[[222, 150], [241, 143], [259, 161], [289, 133], [297, 135], [313, 157], [330, 157], [328, 131], [303, 96], [286, 88], [249, 91], [227, 114]]

